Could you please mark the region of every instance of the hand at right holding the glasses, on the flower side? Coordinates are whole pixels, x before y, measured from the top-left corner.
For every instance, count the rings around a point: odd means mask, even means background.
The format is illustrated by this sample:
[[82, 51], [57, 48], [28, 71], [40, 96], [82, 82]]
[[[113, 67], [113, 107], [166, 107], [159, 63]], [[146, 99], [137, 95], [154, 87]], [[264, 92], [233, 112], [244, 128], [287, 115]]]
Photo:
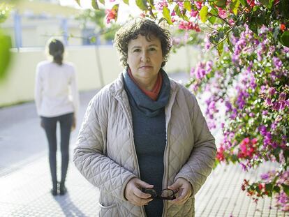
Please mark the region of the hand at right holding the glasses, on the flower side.
[[172, 200], [174, 204], [184, 204], [193, 191], [191, 183], [184, 178], [178, 178], [177, 181], [171, 186], [168, 186], [168, 188], [178, 192], [178, 197]]

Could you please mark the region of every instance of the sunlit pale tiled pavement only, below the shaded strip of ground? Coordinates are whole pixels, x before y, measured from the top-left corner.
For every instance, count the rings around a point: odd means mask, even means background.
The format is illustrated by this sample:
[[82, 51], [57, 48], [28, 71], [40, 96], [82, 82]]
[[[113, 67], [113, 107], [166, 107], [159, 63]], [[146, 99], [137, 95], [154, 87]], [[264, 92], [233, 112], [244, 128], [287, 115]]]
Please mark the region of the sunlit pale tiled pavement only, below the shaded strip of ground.
[[[245, 177], [238, 165], [217, 167], [196, 195], [195, 216], [289, 216], [269, 198], [255, 204], [246, 197], [240, 185], [250, 177], [255, 175]], [[52, 197], [50, 186], [45, 155], [6, 174], [0, 178], [0, 216], [98, 216], [98, 188], [91, 186], [73, 163], [68, 170], [68, 193]]]

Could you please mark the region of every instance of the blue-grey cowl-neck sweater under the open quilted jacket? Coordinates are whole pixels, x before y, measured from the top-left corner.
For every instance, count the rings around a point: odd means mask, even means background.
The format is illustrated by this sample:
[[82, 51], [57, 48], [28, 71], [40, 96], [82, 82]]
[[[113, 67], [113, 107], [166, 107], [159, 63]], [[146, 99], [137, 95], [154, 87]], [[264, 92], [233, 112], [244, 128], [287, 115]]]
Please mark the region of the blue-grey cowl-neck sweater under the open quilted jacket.
[[[151, 100], [124, 73], [124, 87], [133, 116], [133, 139], [140, 167], [140, 179], [154, 185], [157, 193], [161, 193], [163, 181], [163, 154], [166, 144], [165, 105], [170, 98], [170, 80], [161, 71], [163, 84], [156, 101]], [[148, 217], [162, 216], [163, 200], [153, 200], [144, 207]]]

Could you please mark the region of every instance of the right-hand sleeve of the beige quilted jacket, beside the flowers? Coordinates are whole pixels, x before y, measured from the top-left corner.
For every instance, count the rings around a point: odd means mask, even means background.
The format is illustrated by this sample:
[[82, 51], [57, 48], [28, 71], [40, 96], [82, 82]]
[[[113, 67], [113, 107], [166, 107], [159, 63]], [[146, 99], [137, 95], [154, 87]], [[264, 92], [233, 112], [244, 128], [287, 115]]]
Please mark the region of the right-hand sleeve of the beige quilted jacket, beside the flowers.
[[193, 195], [195, 195], [212, 171], [216, 158], [216, 145], [214, 137], [209, 132], [205, 118], [202, 116], [198, 102], [192, 94], [191, 100], [193, 100], [191, 121], [195, 138], [193, 151], [186, 164], [175, 177], [175, 180], [182, 177], [190, 181], [193, 186]]

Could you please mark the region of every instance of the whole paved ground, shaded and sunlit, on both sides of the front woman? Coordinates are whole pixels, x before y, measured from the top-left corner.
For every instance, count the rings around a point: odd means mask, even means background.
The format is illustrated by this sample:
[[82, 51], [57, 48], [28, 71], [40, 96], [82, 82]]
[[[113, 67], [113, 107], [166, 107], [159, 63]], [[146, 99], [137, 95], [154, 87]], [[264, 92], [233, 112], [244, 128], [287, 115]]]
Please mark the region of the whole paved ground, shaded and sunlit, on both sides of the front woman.
[[[172, 77], [186, 80], [184, 74]], [[94, 93], [81, 94], [77, 128]], [[68, 167], [68, 193], [56, 197], [50, 194], [45, 134], [39, 127], [35, 105], [27, 103], [0, 110], [0, 118], [0, 217], [98, 216], [98, 189], [81, 176], [73, 163]], [[71, 144], [76, 136], [77, 130], [72, 135]], [[274, 207], [274, 200], [266, 198], [255, 204], [241, 190], [244, 179], [254, 179], [269, 167], [272, 165], [245, 174], [238, 165], [218, 166], [196, 195], [195, 217], [289, 217]]]

